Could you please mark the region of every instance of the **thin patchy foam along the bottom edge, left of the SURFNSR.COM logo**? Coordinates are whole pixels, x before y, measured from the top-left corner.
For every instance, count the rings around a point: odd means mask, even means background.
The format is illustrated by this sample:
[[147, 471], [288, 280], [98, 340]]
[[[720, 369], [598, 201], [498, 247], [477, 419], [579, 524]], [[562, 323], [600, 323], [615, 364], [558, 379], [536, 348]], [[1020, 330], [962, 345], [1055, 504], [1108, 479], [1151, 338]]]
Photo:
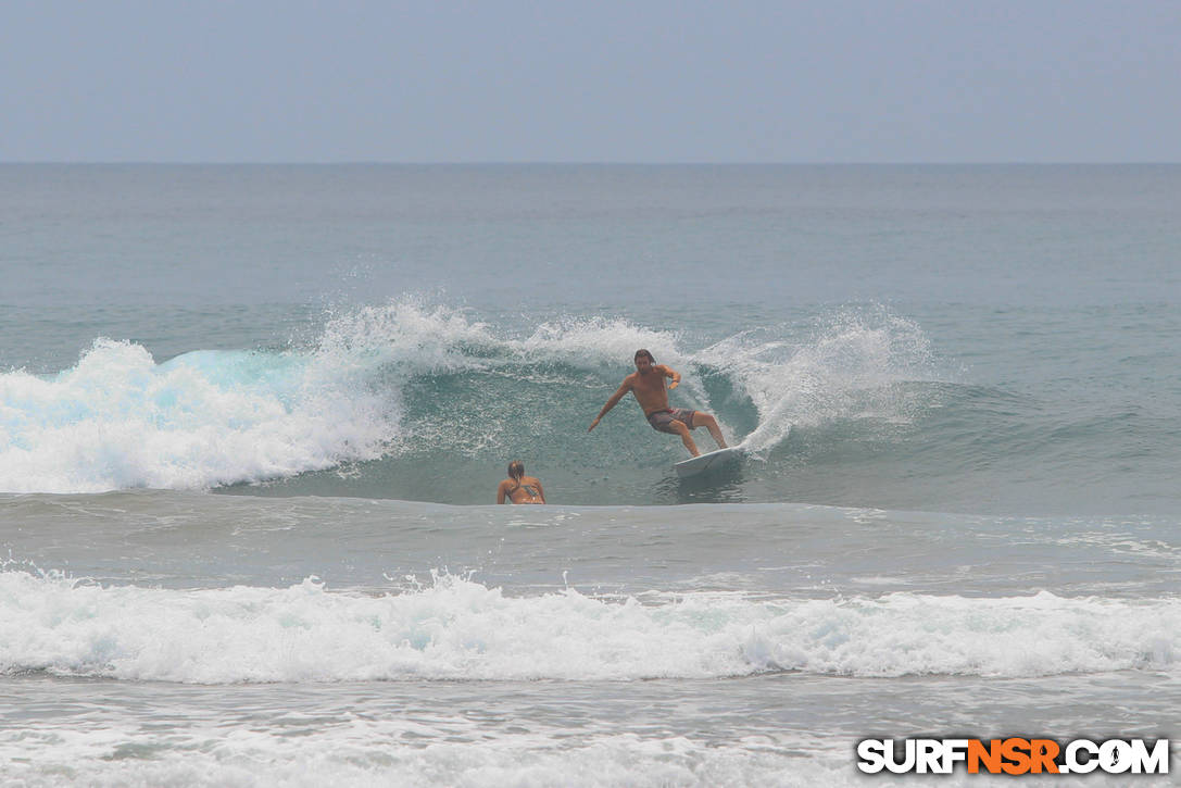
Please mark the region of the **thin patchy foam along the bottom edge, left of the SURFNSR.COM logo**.
[[[398, 719], [319, 722], [315, 729], [165, 731], [139, 727], [0, 731], [0, 776], [24, 786], [843, 786], [847, 748], [817, 757], [752, 742], [683, 736], [498, 735]], [[462, 738], [461, 738], [462, 731]], [[836, 749], [834, 745], [833, 749]], [[150, 754], [150, 755], [149, 755]], [[6, 764], [6, 766], [5, 766]]]

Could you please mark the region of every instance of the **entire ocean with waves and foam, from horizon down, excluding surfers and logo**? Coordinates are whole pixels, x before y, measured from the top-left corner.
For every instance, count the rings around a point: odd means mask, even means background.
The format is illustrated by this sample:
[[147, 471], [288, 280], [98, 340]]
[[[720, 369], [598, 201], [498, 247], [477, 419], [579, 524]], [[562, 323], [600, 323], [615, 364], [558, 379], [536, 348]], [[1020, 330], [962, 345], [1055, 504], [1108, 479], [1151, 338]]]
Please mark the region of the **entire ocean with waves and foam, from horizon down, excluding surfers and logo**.
[[1181, 167], [0, 165], [0, 267], [5, 783], [1181, 737]]

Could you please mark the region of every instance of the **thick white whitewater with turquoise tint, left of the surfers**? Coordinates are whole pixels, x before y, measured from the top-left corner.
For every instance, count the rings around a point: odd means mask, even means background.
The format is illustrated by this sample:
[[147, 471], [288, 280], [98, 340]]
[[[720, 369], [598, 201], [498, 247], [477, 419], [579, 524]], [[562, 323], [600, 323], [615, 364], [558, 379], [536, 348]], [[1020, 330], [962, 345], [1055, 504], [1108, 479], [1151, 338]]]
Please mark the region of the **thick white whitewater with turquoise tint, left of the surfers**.
[[0, 491], [196, 489], [372, 458], [397, 403], [342, 365], [99, 339], [52, 378], [0, 375]]

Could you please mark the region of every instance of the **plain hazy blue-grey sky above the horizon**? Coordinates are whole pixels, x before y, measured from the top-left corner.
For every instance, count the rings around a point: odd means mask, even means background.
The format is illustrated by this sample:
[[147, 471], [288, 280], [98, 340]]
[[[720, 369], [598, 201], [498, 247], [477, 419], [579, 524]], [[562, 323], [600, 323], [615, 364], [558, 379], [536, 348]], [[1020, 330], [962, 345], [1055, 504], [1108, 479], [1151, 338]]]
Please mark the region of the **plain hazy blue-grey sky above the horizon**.
[[1176, 0], [0, 11], [6, 162], [1181, 161]]

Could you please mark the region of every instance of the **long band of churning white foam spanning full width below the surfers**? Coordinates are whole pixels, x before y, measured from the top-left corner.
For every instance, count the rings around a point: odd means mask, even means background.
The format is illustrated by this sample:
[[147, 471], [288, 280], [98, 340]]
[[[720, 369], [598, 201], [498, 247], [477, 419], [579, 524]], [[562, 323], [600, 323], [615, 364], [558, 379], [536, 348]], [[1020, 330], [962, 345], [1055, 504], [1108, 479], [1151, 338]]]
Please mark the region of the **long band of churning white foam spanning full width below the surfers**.
[[646, 605], [567, 590], [104, 587], [0, 574], [0, 670], [203, 684], [374, 679], [629, 680], [762, 671], [1023, 677], [1173, 670], [1181, 600], [921, 594]]

